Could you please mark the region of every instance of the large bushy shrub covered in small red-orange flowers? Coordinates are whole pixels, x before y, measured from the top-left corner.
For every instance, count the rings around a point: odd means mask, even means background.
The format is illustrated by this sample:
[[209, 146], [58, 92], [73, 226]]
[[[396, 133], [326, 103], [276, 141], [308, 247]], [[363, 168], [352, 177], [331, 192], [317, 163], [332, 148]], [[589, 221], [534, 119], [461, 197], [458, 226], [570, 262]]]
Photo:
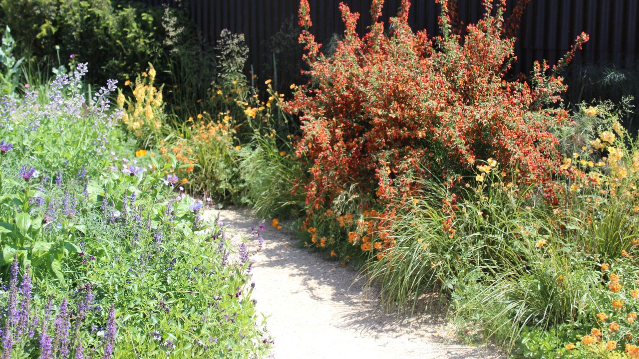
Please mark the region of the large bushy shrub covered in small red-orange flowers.
[[434, 175], [452, 186], [488, 158], [517, 171], [523, 183], [550, 183], [559, 171], [562, 158], [549, 131], [567, 119], [566, 111], [550, 108], [566, 89], [557, 71], [587, 35], [552, 69], [535, 63], [528, 82], [507, 80], [515, 59], [507, 34], [514, 25], [504, 25], [504, 4], [493, 9], [484, 1], [484, 17], [462, 36], [447, 1], [440, 3], [442, 35], [436, 38], [412, 31], [408, 0], [390, 19], [390, 35], [379, 20], [383, 0], [373, 1], [373, 25], [364, 36], [355, 32], [358, 13], [342, 3], [346, 30], [329, 57], [309, 32], [309, 4], [300, 1], [300, 42], [311, 81], [297, 89], [288, 110], [302, 115], [296, 151], [311, 172], [309, 214], [330, 204], [347, 183], [359, 183], [389, 211], [419, 190], [415, 178]]

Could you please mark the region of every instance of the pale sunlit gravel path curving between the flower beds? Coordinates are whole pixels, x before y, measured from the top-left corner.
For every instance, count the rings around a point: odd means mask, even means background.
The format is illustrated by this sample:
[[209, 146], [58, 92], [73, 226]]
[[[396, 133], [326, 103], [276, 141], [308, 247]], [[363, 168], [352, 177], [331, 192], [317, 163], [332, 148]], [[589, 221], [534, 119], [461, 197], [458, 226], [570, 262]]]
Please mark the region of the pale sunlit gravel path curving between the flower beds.
[[[232, 226], [230, 234], [247, 236], [259, 223], [249, 210], [209, 210], [206, 215], [218, 213]], [[296, 248], [286, 228], [278, 231], [267, 223], [263, 238], [263, 250], [252, 256], [252, 297], [266, 316], [276, 359], [504, 358], [495, 349], [450, 339], [441, 314], [385, 313], [374, 294], [355, 282], [357, 271]]]

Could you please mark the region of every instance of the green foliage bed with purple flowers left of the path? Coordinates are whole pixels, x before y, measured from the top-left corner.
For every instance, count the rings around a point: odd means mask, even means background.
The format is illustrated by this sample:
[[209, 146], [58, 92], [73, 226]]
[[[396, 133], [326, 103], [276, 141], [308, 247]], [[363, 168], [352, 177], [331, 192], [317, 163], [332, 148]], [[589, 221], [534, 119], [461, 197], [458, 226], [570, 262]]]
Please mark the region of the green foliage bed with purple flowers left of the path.
[[[180, 193], [175, 155], [134, 154], [105, 101], [114, 84], [87, 99], [84, 66], [3, 103], [0, 273], [22, 287], [0, 290], [0, 326], [17, 343], [3, 337], [0, 350], [37, 358], [49, 337], [55, 357], [266, 356], [244, 245]], [[18, 291], [29, 278], [33, 297]], [[12, 298], [33, 335], [13, 321]]]

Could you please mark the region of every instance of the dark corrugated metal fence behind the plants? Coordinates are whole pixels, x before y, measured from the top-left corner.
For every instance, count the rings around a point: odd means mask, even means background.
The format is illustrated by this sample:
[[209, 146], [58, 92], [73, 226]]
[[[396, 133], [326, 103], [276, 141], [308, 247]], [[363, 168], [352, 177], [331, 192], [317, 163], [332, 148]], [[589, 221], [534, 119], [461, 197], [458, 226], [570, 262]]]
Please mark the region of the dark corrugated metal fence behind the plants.
[[[138, 0], [151, 5], [175, 0]], [[243, 33], [249, 45], [249, 62], [255, 73], [263, 73], [268, 41], [279, 31], [281, 24], [293, 19], [296, 24], [298, 0], [181, 0], [197, 27], [208, 42], [215, 43], [222, 29]], [[320, 42], [334, 33], [341, 33], [343, 25], [338, 9], [340, 2], [360, 13], [358, 31], [366, 32], [371, 16], [371, 0], [309, 0], [312, 32]], [[508, 0], [509, 9], [514, 0]], [[386, 0], [382, 19], [396, 14], [401, 0]], [[475, 22], [482, 15], [479, 0], [459, 0], [459, 18], [463, 24]], [[413, 0], [410, 22], [413, 29], [427, 29], [437, 33], [439, 7], [435, 0]], [[636, 36], [639, 0], [531, 0], [524, 13], [516, 55], [516, 71], [528, 72], [535, 59], [555, 63], [562, 57], [581, 31], [590, 34], [590, 42], [575, 58], [577, 63], [605, 62], [627, 67], [633, 65], [639, 52]], [[295, 52], [287, 56], [300, 56]]]

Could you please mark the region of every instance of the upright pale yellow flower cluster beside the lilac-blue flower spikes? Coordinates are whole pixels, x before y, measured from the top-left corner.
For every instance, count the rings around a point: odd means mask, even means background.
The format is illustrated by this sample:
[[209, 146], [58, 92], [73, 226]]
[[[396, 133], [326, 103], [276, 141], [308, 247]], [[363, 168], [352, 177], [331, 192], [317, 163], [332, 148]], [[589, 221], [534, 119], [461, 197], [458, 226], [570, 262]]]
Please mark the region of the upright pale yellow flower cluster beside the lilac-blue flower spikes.
[[[135, 137], [144, 137], [149, 135], [149, 132], [155, 133], [163, 125], [162, 86], [158, 89], [153, 85], [155, 75], [155, 68], [151, 66], [148, 72], [143, 72], [142, 76], [135, 80], [131, 98], [119, 91], [116, 99], [119, 108], [123, 109], [122, 122]], [[125, 84], [131, 86], [131, 81], [127, 80]]]

